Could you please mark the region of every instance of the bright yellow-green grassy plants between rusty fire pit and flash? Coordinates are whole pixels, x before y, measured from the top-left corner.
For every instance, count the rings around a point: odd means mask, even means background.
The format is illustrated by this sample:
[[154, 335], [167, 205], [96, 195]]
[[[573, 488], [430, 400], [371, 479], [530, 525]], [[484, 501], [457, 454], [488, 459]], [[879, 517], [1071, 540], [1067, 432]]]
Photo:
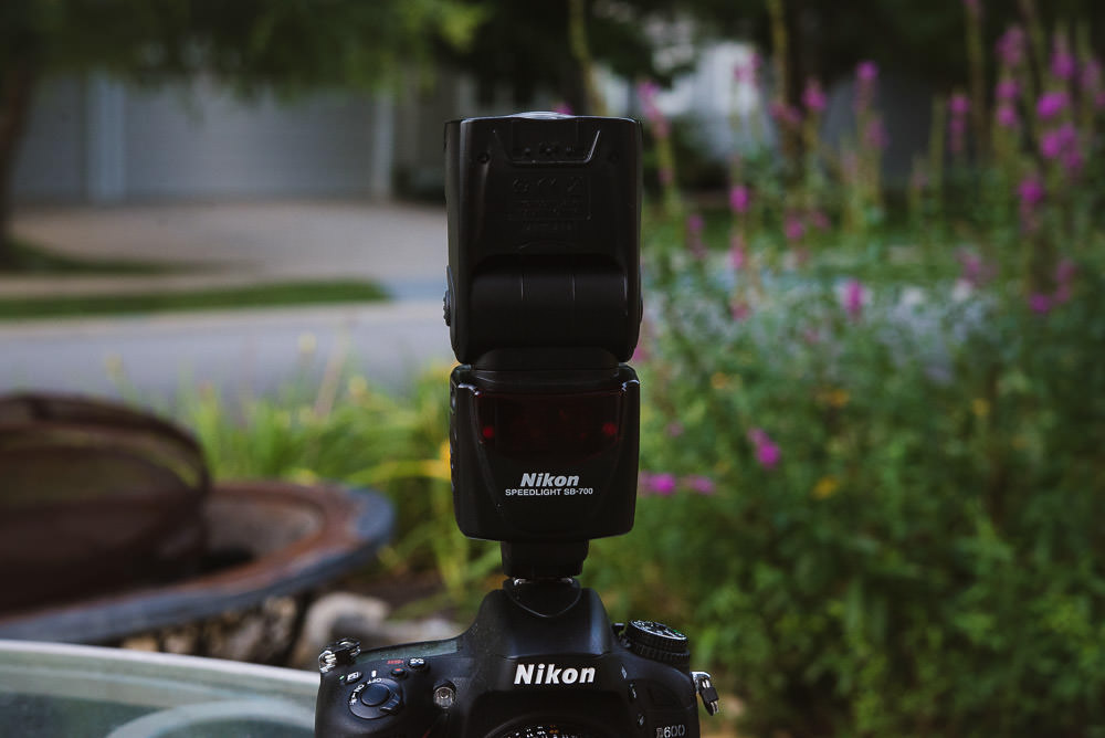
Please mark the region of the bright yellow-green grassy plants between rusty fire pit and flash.
[[398, 523], [383, 567], [436, 571], [449, 602], [474, 609], [485, 588], [473, 584], [497, 570], [498, 547], [469, 540], [453, 521], [448, 371], [425, 372], [401, 400], [335, 372], [332, 366], [315, 397], [305, 381], [235, 405], [201, 391], [182, 398], [176, 414], [199, 436], [217, 479], [330, 481], [385, 492]]

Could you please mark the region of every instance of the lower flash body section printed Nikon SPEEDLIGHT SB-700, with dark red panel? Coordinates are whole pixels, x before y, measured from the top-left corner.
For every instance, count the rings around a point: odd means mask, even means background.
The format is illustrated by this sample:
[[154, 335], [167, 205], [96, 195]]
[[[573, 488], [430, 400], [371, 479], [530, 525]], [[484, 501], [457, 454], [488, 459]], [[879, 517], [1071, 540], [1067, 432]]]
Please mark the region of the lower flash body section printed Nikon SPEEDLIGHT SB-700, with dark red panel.
[[535, 373], [461, 366], [450, 394], [453, 505], [465, 536], [587, 541], [633, 527], [640, 383], [630, 367]]

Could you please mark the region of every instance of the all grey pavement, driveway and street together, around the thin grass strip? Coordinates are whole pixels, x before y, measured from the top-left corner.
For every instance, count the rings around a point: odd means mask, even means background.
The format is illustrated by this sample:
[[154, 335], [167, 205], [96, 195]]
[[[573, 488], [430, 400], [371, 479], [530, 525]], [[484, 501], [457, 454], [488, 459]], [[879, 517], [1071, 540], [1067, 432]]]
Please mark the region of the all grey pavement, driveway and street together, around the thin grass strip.
[[[143, 397], [183, 382], [227, 393], [317, 381], [345, 354], [371, 381], [409, 384], [418, 368], [452, 358], [441, 317], [446, 262], [443, 208], [349, 202], [157, 205], [23, 211], [17, 231], [90, 257], [187, 262], [170, 277], [0, 280], [0, 294], [193, 288], [288, 278], [367, 277], [389, 304], [0, 323], [0, 391], [117, 394], [122, 367]], [[302, 348], [314, 345], [305, 357]], [[306, 376], [306, 379], [303, 379]]]

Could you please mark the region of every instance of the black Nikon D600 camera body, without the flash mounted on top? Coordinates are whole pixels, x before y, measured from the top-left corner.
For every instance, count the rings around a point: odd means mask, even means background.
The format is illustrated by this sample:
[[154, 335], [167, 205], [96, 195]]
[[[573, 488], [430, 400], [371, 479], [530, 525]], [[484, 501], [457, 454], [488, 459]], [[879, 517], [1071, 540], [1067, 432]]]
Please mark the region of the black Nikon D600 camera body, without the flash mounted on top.
[[[507, 582], [462, 635], [367, 652], [324, 674], [315, 735], [698, 738], [688, 671], [631, 649], [593, 591], [575, 581]], [[392, 714], [360, 703], [373, 684], [394, 695]], [[449, 707], [434, 700], [440, 688], [454, 696]]]

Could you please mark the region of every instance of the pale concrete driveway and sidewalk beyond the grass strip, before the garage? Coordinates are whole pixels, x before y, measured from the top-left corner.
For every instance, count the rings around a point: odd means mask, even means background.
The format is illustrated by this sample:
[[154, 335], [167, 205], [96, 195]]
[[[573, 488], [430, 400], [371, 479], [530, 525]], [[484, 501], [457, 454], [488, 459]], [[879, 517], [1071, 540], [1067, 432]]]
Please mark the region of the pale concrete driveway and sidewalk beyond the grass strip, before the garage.
[[361, 278], [398, 298], [440, 298], [443, 207], [265, 201], [32, 208], [14, 232], [81, 259], [180, 264], [167, 275], [0, 276], [0, 296], [122, 294], [290, 280]]

